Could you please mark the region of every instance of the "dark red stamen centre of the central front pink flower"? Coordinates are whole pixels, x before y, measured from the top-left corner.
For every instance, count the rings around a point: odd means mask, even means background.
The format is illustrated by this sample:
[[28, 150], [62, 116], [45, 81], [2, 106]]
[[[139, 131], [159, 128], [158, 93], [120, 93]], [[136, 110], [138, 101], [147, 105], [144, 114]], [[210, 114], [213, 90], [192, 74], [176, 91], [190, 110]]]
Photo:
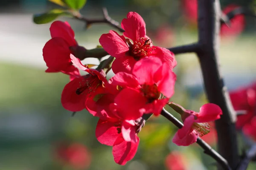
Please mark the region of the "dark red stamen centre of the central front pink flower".
[[142, 85], [141, 91], [143, 92], [143, 95], [148, 99], [148, 102], [151, 103], [155, 99], [159, 99], [160, 92], [157, 89], [157, 85]]

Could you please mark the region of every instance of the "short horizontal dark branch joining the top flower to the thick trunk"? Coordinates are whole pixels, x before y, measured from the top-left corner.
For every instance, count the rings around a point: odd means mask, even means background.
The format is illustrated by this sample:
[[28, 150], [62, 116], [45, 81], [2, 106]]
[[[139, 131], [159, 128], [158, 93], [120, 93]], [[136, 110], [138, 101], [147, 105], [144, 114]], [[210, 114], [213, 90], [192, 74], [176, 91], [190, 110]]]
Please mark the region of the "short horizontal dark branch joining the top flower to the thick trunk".
[[188, 45], [181, 45], [177, 47], [168, 48], [174, 54], [183, 54], [183, 53], [198, 53], [200, 50], [200, 45], [198, 43], [192, 43]]

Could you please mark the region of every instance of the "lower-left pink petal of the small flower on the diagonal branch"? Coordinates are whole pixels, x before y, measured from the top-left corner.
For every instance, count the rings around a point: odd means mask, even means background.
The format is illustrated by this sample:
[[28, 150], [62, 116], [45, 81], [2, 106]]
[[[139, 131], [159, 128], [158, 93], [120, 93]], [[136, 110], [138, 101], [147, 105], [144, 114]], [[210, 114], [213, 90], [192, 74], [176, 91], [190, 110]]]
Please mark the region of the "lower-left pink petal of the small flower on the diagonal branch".
[[172, 142], [177, 144], [178, 146], [189, 146], [190, 144], [195, 143], [197, 138], [198, 138], [198, 135], [195, 133], [195, 130], [193, 130], [191, 133], [187, 134], [182, 139], [179, 138], [179, 136], [176, 132], [172, 139]]

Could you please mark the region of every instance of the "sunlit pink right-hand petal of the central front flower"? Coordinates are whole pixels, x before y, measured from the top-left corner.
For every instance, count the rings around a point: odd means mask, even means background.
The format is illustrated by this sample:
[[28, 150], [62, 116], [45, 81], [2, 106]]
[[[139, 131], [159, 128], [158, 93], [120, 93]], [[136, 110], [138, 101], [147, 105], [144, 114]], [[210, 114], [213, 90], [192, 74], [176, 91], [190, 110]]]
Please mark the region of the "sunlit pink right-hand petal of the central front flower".
[[155, 72], [154, 82], [157, 82], [157, 89], [164, 96], [170, 98], [174, 94], [176, 74], [170, 70], [166, 63]]

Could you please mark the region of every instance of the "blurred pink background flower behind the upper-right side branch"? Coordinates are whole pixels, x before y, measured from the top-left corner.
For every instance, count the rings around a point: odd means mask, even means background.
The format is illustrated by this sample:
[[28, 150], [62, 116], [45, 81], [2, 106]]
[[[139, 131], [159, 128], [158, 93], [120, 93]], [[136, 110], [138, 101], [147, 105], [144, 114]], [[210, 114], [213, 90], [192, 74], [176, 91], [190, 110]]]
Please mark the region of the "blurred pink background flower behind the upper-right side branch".
[[[231, 4], [223, 9], [223, 13], [227, 14], [234, 9], [239, 8], [239, 6]], [[244, 31], [245, 27], [245, 17], [243, 14], [236, 15], [230, 20], [230, 26], [225, 24], [221, 25], [221, 36], [237, 36]]]

